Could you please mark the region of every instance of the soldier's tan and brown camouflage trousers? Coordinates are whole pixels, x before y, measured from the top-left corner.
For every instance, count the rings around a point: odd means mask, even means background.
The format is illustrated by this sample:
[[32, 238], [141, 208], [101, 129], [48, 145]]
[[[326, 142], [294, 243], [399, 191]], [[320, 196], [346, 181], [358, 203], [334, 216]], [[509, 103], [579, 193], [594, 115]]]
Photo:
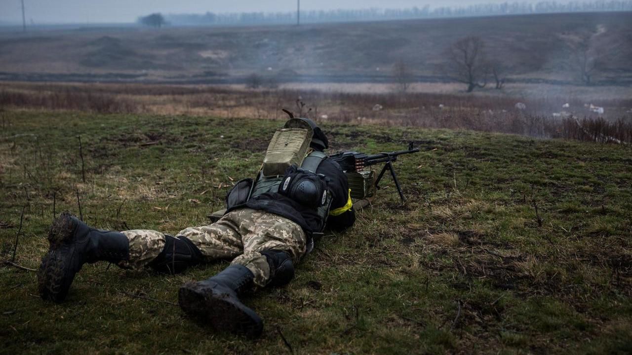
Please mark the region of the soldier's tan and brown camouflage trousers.
[[[158, 231], [135, 229], [123, 231], [130, 241], [130, 259], [125, 267], [142, 268], [158, 256], [165, 245], [165, 236]], [[188, 238], [202, 252], [207, 262], [232, 259], [231, 264], [244, 265], [255, 275], [256, 286], [270, 280], [270, 267], [265, 250], [283, 250], [298, 263], [305, 254], [307, 236], [295, 222], [269, 212], [242, 208], [224, 215], [209, 226], [188, 227], [178, 236]]]

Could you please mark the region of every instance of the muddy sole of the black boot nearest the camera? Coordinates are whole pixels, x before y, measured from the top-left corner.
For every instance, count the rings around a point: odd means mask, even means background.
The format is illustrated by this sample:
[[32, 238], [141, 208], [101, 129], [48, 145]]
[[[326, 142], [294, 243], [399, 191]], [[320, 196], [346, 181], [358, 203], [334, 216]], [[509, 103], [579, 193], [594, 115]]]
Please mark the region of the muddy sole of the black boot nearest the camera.
[[210, 323], [217, 330], [233, 334], [258, 337], [263, 330], [263, 321], [257, 313], [241, 303], [234, 303], [214, 289], [188, 282], [178, 292], [180, 308], [191, 318]]

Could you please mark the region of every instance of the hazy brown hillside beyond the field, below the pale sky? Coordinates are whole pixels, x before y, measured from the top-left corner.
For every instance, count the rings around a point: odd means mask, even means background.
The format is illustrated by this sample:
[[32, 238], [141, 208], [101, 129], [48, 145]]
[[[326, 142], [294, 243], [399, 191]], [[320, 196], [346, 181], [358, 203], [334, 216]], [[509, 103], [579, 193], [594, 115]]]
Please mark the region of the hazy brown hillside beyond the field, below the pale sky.
[[[404, 61], [420, 81], [442, 81], [444, 50], [480, 36], [514, 81], [571, 83], [564, 38], [599, 33], [595, 80], [632, 80], [632, 13], [495, 16], [269, 27], [84, 28], [0, 32], [0, 79], [243, 82], [392, 81]], [[565, 37], [566, 36], [566, 37]]]

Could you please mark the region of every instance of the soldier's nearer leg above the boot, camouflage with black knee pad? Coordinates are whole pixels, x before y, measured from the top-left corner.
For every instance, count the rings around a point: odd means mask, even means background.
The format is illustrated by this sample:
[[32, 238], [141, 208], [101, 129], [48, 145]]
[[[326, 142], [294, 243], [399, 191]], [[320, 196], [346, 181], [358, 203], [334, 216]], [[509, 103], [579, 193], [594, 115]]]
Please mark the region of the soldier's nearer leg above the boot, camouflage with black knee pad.
[[294, 264], [305, 254], [307, 236], [295, 222], [264, 211], [246, 210], [241, 221], [243, 254], [233, 265], [243, 265], [258, 287], [283, 286], [294, 276]]

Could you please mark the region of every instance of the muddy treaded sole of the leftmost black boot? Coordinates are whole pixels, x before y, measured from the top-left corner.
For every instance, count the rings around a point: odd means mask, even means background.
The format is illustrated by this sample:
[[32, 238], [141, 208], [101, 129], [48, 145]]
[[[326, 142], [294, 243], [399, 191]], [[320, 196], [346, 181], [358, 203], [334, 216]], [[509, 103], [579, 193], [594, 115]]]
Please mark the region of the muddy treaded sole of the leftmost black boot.
[[37, 271], [38, 289], [42, 299], [61, 302], [68, 294], [72, 280], [66, 282], [67, 286], [64, 285], [66, 268], [63, 255], [60, 255], [58, 248], [65, 241], [73, 238], [74, 229], [75, 225], [67, 212], [59, 215], [52, 223], [47, 237], [50, 244], [49, 251], [42, 258], [42, 264]]

